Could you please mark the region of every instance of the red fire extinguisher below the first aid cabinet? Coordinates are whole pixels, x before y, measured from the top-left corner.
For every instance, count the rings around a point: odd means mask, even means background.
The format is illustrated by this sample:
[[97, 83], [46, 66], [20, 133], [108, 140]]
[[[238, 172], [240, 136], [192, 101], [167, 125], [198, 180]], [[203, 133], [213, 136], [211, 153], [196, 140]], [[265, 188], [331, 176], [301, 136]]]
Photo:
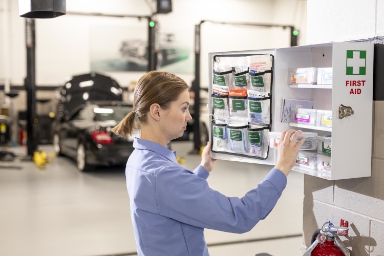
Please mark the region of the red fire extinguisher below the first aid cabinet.
[[350, 256], [349, 250], [338, 236], [348, 234], [348, 221], [341, 220], [340, 227], [330, 221], [324, 223], [312, 236], [311, 245], [303, 256]]

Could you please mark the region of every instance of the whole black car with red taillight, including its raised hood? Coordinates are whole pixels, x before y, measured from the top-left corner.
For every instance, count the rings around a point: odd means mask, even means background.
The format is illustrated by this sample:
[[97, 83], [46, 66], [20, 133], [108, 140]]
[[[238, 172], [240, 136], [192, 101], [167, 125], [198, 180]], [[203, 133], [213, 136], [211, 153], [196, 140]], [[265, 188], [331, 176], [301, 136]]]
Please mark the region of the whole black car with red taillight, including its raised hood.
[[53, 144], [57, 155], [76, 160], [81, 171], [95, 165], [123, 164], [133, 137], [119, 138], [112, 127], [132, 111], [111, 77], [97, 73], [71, 77], [57, 92]]

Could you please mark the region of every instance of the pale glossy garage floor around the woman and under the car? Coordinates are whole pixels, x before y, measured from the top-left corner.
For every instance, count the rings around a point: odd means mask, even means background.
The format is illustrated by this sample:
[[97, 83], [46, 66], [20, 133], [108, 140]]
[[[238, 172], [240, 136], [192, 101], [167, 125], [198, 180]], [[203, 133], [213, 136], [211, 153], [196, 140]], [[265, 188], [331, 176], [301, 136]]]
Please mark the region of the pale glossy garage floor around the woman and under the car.
[[[183, 165], [194, 169], [200, 156], [188, 155], [191, 148], [191, 142], [172, 143], [186, 157]], [[51, 145], [39, 149], [53, 152]], [[242, 197], [270, 168], [218, 161], [208, 182], [226, 196]], [[205, 230], [210, 255], [301, 255], [303, 194], [303, 174], [291, 172], [278, 204], [250, 232]], [[124, 166], [80, 173], [66, 157], [51, 158], [45, 170], [31, 161], [0, 162], [0, 255], [136, 255]]]

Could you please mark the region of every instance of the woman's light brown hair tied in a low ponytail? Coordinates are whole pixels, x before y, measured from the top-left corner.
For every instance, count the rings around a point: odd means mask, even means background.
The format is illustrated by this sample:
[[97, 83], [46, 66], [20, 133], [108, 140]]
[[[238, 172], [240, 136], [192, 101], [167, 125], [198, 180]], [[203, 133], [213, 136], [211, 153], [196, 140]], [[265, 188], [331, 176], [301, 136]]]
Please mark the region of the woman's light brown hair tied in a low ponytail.
[[161, 108], [168, 109], [169, 103], [177, 100], [186, 89], [188, 89], [187, 83], [175, 74], [165, 71], [146, 73], [137, 82], [133, 111], [127, 114], [112, 132], [121, 137], [132, 135], [138, 129], [139, 123], [146, 122], [146, 114], [152, 104], [157, 103]]

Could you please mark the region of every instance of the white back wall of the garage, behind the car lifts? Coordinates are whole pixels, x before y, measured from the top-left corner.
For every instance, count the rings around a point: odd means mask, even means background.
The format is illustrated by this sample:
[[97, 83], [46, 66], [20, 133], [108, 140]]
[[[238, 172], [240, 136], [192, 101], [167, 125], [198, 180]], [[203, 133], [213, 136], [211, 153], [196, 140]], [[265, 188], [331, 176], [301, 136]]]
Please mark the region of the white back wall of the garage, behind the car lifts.
[[[10, 31], [5, 35], [11, 45], [9, 60], [10, 80], [23, 84], [26, 76], [25, 19], [18, 16], [17, 1], [2, 0], [10, 7]], [[92, 5], [90, 5], [90, 3]], [[157, 15], [160, 30], [184, 31], [183, 40], [194, 47], [195, 25], [201, 20], [223, 20], [227, 22], [295, 23], [301, 31], [303, 1], [296, 0], [174, 0], [173, 12]], [[295, 11], [296, 10], [296, 11]], [[108, 14], [150, 15], [150, 7], [144, 0], [67, 0], [67, 12], [100, 12]], [[295, 16], [293, 16], [295, 15]], [[54, 19], [36, 19], [36, 83], [38, 85], [62, 84], [69, 75], [90, 71], [90, 31], [97, 26], [142, 26], [131, 18], [110, 18], [64, 15]], [[1, 30], [0, 30], [1, 31]], [[127, 31], [127, 36], [130, 36]], [[304, 33], [304, 32], [303, 32]], [[105, 40], [109, 38], [106, 37]], [[301, 37], [301, 41], [302, 37]], [[0, 44], [0, 47], [2, 45]], [[289, 46], [289, 31], [282, 29], [247, 28], [227, 25], [204, 24], [202, 27], [202, 81], [207, 77], [207, 53], [214, 51], [252, 50]], [[2, 47], [4, 49], [4, 47]], [[0, 51], [2, 57], [3, 51]], [[191, 65], [194, 55], [190, 56]], [[4, 63], [0, 64], [4, 66]], [[0, 77], [4, 67], [0, 66]], [[3, 72], [3, 73], [2, 73]], [[143, 73], [113, 72], [121, 86], [127, 86]], [[188, 83], [193, 74], [178, 74]], [[203, 86], [204, 83], [202, 82]]]

